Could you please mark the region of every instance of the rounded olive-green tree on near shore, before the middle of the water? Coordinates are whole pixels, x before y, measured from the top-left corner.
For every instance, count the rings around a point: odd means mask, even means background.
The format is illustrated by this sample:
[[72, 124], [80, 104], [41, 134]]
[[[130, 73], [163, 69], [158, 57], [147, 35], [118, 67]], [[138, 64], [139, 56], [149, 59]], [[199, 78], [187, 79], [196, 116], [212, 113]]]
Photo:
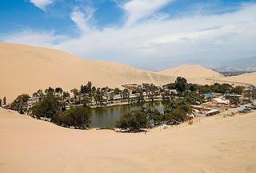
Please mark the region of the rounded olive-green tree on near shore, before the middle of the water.
[[149, 127], [149, 120], [146, 114], [140, 110], [133, 110], [122, 115], [116, 121], [116, 128], [128, 130], [129, 132], [140, 132], [142, 128]]

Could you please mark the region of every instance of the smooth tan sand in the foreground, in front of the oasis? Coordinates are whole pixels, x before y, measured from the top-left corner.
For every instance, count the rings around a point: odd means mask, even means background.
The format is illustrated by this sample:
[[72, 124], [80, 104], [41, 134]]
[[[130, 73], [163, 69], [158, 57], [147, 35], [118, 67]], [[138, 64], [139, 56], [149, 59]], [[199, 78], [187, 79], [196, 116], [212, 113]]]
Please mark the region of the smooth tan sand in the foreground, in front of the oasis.
[[256, 172], [256, 113], [123, 134], [0, 109], [0, 172]]

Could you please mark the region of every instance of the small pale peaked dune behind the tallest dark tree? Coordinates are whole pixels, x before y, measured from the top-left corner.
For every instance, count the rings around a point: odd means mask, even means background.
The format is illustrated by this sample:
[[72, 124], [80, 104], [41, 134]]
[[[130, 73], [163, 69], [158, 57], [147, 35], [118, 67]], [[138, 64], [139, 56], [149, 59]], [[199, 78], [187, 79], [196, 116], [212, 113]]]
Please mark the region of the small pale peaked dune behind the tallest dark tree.
[[166, 69], [158, 73], [185, 78], [212, 78], [213, 76], [214, 78], [223, 77], [222, 74], [211, 69], [206, 69], [201, 65], [180, 65], [173, 69]]

